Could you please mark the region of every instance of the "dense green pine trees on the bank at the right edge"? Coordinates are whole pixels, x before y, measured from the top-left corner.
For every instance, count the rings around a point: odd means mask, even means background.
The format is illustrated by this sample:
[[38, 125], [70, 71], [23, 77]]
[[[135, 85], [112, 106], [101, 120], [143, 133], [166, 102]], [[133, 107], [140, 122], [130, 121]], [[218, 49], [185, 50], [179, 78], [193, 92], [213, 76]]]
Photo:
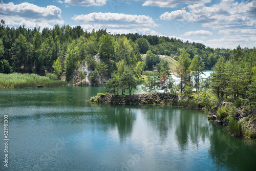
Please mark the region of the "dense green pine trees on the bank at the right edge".
[[217, 94], [218, 99], [248, 102], [251, 108], [255, 104], [253, 68], [256, 67], [256, 49], [242, 49], [240, 46], [232, 51], [232, 55], [226, 60], [221, 56], [212, 70], [211, 88]]

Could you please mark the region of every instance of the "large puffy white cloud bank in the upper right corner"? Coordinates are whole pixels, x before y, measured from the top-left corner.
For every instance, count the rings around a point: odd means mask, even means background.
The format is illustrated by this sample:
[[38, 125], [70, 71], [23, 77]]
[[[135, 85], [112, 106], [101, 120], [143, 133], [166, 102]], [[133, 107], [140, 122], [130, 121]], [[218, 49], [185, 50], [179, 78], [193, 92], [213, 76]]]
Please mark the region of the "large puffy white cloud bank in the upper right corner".
[[[204, 4], [188, 5], [185, 9], [165, 12], [160, 16], [163, 20], [181, 20], [201, 23], [203, 27], [211, 29], [225, 29], [234, 27], [256, 27], [256, 0], [251, 2], [234, 2], [222, 0], [219, 4], [206, 7]], [[253, 14], [254, 13], [254, 14]]]

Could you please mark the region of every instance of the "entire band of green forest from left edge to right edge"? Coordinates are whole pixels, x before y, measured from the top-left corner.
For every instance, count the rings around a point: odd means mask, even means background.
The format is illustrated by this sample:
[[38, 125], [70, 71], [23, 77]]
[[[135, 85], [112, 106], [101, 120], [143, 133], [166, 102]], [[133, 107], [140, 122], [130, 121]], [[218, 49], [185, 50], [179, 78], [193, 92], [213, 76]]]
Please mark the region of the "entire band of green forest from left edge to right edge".
[[[97, 53], [100, 62], [94, 59]], [[170, 71], [167, 61], [159, 55], [175, 59], [177, 67]], [[114, 94], [118, 90], [129, 90], [131, 94], [143, 82], [143, 89], [148, 92], [162, 89], [165, 93], [190, 95], [193, 89], [198, 94], [211, 90], [219, 100], [252, 106], [256, 101], [255, 48], [214, 49], [164, 36], [110, 34], [106, 29], [88, 32], [68, 25], [55, 25], [52, 29], [10, 28], [1, 20], [0, 73], [53, 73], [56, 79], [62, 77], [69, 82], [73, 71], [84, 62], [93, 71], [90, 80], [97, 83], [98, 77], [108, 78], [106, 89]], [[214, 73], [202, 79], [200, 75], [205, 70]], [[178, 85], [171, 73], [180, 78]], [[84, 74], [79, 73], [79, 77]]]

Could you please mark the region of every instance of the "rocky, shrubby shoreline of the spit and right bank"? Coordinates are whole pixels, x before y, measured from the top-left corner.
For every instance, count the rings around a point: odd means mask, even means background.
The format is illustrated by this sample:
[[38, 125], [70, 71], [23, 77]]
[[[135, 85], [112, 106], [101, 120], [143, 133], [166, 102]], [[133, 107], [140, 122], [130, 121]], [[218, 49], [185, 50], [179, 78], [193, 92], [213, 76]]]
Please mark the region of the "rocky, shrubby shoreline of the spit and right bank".
[[[164, 94], [164, 93], [145, 93], [137, 95], [113, 95], [98, 93], [91, 97], [92, 103], [106, 104], [133, 104], [133, 105], [170, 105], [185, 109], [205, 110], [204, 105], [192, 97], [182, 95]], [[230, 109], [223, 116], [219, 116], [218, 110], [224, 108]], [[233, 109], [231, 107], [233, 106]], [[232, 111], [232, 115], [229, 111]], [[232, 122], [230, 121], [232, 119]], [[226, 126], [229, 134], [235, 137], [256, 138], [256, 110], [246, 110], [245, 106], [235, 107], [230, 102], [218, 102], [212, 111], [208, 113], [208, 120], [216, 125]], [[229, 124], [230, 123], [230, 124]]]

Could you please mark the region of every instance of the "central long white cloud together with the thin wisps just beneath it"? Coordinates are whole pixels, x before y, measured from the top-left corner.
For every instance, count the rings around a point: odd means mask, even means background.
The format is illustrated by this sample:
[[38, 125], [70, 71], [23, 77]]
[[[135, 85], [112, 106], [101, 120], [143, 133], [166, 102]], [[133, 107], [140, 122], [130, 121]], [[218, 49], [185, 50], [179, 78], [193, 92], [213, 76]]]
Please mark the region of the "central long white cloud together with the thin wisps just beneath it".
[[154, 20], [146, 15], [130, 15], [121, 13], [90, 13], [87, 15], [75, 15], [73, 20], [79, 23], [84, 30], [92, 31], [106, 28], [112, 34], [152, 34], [159, 35], [158, 32], [151, 30], [153, 27], [158, 27]]

